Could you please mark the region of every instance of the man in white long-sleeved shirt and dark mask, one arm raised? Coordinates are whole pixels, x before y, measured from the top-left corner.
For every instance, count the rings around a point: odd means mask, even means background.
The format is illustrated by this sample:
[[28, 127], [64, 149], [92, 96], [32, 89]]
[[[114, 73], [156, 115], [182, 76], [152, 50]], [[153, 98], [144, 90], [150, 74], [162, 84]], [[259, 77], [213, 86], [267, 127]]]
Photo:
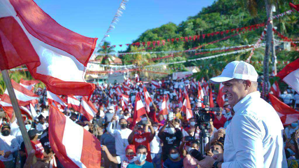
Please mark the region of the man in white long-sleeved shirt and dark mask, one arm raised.
[[[111, 121], [115, 121], [117, 118], [112, 117]], [[128, 137], [131, 134], [132, 130], [127, 128], [128, 122], [126, 119], [121, 118], [119, 120], [120, 129], [112, 129], [112, 123], [110, 122], [107, 128], [107, 131], [110, 135], [115, 137], [115, 150], [116, 155], [125, 155], [126, 146], [129, 145]]]

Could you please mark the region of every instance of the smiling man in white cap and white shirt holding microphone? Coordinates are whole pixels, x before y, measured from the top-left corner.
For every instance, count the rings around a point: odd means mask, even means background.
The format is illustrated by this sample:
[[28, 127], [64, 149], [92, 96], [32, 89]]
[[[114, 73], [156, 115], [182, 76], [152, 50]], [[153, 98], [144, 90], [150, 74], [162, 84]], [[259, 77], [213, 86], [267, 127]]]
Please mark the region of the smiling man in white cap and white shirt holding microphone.
[[210, 79], [222, 83], [235, 115], [226, 128], [224, 153], [206, 156], [201, 168], [288, 167], [283, 147], [283, 125], [273, 107], [260, 98], [257, 72], [247, 62], [228, 63]]

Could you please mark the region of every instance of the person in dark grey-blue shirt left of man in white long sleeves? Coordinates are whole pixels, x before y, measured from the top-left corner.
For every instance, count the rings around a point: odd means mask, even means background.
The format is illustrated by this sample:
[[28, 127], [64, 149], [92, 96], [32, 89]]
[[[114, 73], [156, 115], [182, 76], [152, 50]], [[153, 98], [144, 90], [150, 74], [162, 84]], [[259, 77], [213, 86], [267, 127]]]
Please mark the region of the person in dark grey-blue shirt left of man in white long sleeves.
[[[108, 123], [106, 124], [107, 126]], [[108, 129], [108, 127], [107, 127]], [[101, 138], [100, 138], [100, 142], [101, 142], [101, 145], [105, 145], [110, 151], [110, 155], [112, 155], [113, 157], [116, 157], [116, 150], [115, 150], [115, 137], [113, 137], [108, 131], [105, 132]], [[103, 150], [103, 148], [102, 148]], [[112, 168], [116, 168], [118, 163], [114, 163], [112, 162], [109, 158], [108, 158], [108, 155], [107, 155], [107, 152], [104, 152], [102, 154], [102, 157], [104, 158], [104, 168], [109, 168], [110, 165], [112, 166]]]

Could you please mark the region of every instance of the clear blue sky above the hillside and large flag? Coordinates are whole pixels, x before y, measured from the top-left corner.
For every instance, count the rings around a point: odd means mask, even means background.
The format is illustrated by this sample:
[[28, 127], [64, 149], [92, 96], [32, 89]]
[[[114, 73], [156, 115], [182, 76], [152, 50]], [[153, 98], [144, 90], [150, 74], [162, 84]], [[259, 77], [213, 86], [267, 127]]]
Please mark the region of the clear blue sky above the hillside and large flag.
[[[60, 25], [84, 36], [103, 38], [121, 0], [34, 0]], [[115, 29], [106, 41], [117, 45], [131, 43], [147, 29], [168, 22], [179, 24], [194, 16], [214, 0], [130, 0]]]

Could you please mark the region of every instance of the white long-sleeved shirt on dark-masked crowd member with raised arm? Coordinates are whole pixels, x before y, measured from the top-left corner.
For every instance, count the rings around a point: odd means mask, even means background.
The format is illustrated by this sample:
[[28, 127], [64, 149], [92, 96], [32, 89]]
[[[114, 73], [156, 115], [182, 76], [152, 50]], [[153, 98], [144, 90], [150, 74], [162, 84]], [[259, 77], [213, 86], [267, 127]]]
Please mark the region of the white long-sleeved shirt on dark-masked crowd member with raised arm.
[[131, 129], [112, 129], [112, 122], [108, 125], [108, 132], [115, 137], [116, 155], [126, 155], [126, 147], [129, 145], [128, 137]]

